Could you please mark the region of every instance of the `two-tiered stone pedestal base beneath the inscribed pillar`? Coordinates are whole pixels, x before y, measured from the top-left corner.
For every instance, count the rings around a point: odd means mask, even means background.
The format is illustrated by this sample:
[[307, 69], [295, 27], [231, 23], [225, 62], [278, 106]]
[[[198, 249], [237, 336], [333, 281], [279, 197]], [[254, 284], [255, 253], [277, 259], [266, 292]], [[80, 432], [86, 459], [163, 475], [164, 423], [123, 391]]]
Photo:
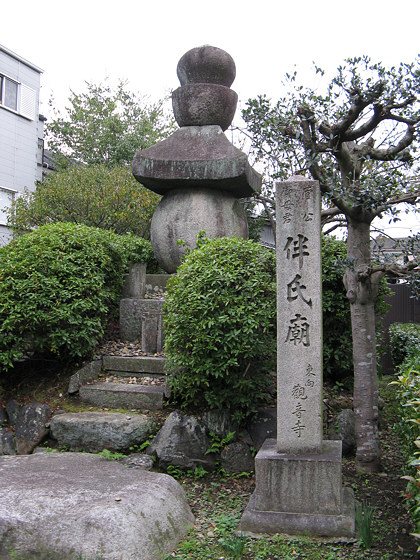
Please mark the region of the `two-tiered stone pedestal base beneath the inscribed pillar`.
[[255, 458], [256, 489], [239, 530], [247, 534], [353, 537], [354, 496], [341, 485], [341, 442], [320, 453], [277, 453], [267, 439]]

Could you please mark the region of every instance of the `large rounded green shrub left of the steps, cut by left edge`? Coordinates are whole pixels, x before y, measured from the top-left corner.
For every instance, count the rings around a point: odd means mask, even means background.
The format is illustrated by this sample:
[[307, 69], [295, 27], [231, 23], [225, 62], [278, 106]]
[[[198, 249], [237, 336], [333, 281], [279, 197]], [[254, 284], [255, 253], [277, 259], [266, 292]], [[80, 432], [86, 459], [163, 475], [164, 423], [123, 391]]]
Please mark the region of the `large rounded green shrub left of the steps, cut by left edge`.
[[134, 236], [57, 223], [0, 248], [0, 367], [27, 351], [87, 356], [119, 302], [128, 261], [149, 258], [149, 246]]

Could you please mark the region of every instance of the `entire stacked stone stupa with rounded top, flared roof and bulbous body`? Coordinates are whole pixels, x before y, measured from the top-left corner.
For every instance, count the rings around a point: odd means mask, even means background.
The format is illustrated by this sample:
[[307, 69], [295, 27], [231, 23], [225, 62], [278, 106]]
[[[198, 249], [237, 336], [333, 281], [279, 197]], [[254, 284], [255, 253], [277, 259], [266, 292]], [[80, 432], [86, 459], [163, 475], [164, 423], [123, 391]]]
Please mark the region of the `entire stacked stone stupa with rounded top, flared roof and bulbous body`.
[[210, 238], [246, 238], [246, 215], [238, 199], [261, 188], [261, 176], [223, 133], [237, 104], [230, 89], [236, 75], [232, 57], [216, 47], [194, 48], [180, 59], [177, 74], [181, 87], [173, 92], [172, 105], [180, 128], [133, 159], [135, 178], [163, 195], [153, 215], [151, 241], [169, 273], [185, 253], [179, 240], [193, 248], [201, 230]]

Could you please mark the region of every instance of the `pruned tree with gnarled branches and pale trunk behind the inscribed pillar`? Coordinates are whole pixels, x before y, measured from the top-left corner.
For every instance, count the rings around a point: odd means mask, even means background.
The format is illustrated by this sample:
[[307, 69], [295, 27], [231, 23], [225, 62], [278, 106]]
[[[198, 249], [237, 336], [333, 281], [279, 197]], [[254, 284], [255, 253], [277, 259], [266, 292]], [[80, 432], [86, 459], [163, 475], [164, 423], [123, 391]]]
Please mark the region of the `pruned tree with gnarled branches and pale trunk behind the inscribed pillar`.
[[276, 104], [260, 96], [243, 111], [252, 153], [271, 181], [261, 197], [267, 211], [273, 210], [274, 180], [310, 174], [323, 194], [324, 224], [332, 222], [327, 229], [347, 227], [344, 283], [352, 321], [356, 464], [369, 472], [380, 467], [378, 286], [384, 275], [403, 276], [419, 265], [418, 255], [405, 265], [374, 264], [370, 233], [376, 217], [396, 220], [402, 203], [415, 209], [419, 201], [419, 62], [386, 69], [368, 57], [347, 59], [323, 94], [298, 85], [296, 73], [287, 75], [288, 93]]

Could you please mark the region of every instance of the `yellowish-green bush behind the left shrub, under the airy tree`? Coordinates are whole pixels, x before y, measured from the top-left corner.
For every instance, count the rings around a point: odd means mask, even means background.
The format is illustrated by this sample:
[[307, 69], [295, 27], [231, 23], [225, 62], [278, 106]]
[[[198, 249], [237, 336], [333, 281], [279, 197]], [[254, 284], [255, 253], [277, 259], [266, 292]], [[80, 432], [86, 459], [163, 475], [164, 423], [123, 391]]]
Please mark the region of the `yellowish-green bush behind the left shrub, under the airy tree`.
[[71, 222], [148, 237], [160, 197], [133, 177], [129, 167], [72, 166], [49, 174], [25, 191], [9, 211], [15, 233], [54, 222]]

